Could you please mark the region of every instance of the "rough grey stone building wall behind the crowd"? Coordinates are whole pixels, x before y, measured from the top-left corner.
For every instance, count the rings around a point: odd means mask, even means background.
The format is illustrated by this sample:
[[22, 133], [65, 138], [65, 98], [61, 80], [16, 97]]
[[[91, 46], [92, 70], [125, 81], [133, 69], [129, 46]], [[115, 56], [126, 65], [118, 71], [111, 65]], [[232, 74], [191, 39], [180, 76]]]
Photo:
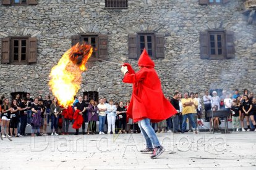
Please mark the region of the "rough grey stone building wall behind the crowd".
[[[95, 37], [91, 40], [98, 43], [96, 57], [129, 62], [137, 70], [142, 35], [154, 39], [152, 57], [164, 94], [179, 90], [202, 96], [205, 89], [235, 88], [256, 92], [256, 29], [247, 23], [242, 0], [220, 4], [216, 0], [129, 0], [125, 9], [108, 8], [103, 0], [0, 2], [0, 94], [7, 97], [15, 92], [30, 92], [33, 97], [51, 94], [51, 68], [76, 38]], [[221, 57], [211, 55], [211, 32], [221, 34]], [[22, 64], [12, 60], [15, 38], [17, 42], [27, 38], [30, 48]], [[219, 46], [220, 39], [212, 38]], [[6, 46], [10, 51], [5, 51]], [[119, 66], [97, 60], [87, 66], [79, 94], [98, 92], [108, 99], [130, 99], [132, 86], [122, 83]]]

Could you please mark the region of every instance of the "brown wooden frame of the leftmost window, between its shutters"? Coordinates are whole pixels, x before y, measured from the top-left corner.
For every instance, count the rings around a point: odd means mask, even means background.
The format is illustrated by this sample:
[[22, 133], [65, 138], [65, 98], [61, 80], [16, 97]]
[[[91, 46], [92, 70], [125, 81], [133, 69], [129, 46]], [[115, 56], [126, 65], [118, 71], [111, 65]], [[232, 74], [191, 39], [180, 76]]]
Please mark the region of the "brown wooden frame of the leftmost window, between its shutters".
[[[29, 36], [10, 36], [10, 63], [14, 64], [14, 65], [23, 65], [23, 64], [27, 64], [28, 63], [28, 51], [29, 51]], [[19, 61], [14, 61], [14, 40], [26, 40], [26, 60], [25, 61], [21, 61], [21, 45], [19, 46]]]

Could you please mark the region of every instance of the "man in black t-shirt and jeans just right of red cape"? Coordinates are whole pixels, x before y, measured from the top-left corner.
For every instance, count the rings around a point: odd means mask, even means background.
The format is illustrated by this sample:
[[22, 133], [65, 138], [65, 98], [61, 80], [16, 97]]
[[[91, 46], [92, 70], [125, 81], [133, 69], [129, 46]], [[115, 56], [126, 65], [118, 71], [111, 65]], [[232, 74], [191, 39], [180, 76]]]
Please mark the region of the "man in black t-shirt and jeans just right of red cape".
[[180, 130], [179, 115], [181, 114], [179, 109], [179, 92], [174, 93], [174, 97], [171, 99], [171, 104], [177, 110], [177, 113], [173, 115], [173, 133], [177, 134]]

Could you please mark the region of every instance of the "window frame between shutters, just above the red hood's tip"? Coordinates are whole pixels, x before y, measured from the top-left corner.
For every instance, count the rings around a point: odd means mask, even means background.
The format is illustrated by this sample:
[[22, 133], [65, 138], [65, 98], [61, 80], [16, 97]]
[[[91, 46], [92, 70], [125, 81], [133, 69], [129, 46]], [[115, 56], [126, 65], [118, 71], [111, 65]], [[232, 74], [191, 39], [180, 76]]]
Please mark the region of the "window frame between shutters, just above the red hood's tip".
[[[152, 43], [152, 56], [151, 59], [155, 59], [156, 58], [156, 35], [155, 33], [153, 32], [139, 32], [137, 33], [137, 51], [138, 51], [138, 56], [140, 56], [140, 54], [142, 53], [141, 52], [141, 46], [140, 46], [140, 36], [144, 36], [144, 37], [147, 37], [147, 36], [151, 36], [151, 43]], [[148, 44], [146, 44], [146, 40], [145, 40], [145, 49], [148, 51]]]

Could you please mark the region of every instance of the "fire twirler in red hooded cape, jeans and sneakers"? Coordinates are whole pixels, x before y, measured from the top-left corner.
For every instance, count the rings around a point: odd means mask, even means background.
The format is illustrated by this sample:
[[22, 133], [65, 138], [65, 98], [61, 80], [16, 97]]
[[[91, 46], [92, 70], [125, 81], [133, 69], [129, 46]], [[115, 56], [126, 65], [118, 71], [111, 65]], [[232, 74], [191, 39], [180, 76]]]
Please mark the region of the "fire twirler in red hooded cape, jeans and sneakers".
[[150, 59], [145, 49], [140, 55], [138, 65], [139, 71], [137, 73], [129, 63], [124, 63], [121, 68], [122, 73], [124, 73], [122, 81], [133, 84], [132, 99], [127, 114], [129, 118], [134, 119], [134, 122], [139, 122], [140, 130], [146, 140], [147, 146], [140, 152], [153, 152], [151, 158], [154, 159], [164, 152], [164, 148], [160, 145], [150, 122], [157, 123], [168, 119], [177, 111], [164, 97], [160, 79], [154, 69], [155, 63]]

